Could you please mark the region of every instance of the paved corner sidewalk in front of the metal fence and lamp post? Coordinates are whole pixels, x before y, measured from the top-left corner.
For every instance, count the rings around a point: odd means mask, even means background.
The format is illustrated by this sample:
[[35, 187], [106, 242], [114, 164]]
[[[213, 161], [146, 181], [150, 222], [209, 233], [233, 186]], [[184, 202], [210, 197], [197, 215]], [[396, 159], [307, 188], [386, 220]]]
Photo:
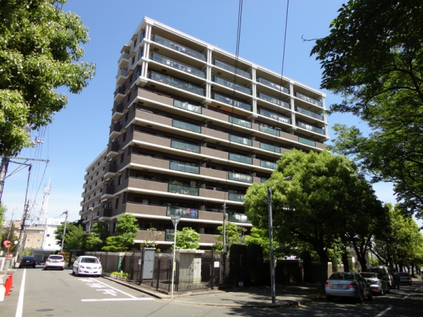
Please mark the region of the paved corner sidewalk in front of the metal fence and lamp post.
[[[115, 280], [118, 284], [138, 290], [157, 299], [171, 300], [171, 294], [157, 292], [149, 285], [137, 285], [133, 282]], [[225, 307], [250, 307], [250, 308], [282, 308], [300, 306], [324, 300], [325, 297], [318, 293], [318, 285], [309, 284], [289, 284], [276, 287], [276, 303], [271, 302], [271, 290], [269, 287], [263, 288], [239, 288], [231, 290], [203, 290], [195, 292], [185, 292], [183, 294], [174, 293], [173, 302], [185, 304], [196, 304], [206, 306]]]

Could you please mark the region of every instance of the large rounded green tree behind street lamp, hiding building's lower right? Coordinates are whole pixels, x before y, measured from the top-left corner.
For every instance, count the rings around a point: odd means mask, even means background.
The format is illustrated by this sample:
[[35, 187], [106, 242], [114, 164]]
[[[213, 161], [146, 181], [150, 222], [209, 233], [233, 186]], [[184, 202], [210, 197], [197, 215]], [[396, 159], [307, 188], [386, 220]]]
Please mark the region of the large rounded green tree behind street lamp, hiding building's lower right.
[[[292, 180], [282, 181], [291, 176]], [[343, 156], [293, 150], [283, 154], [278, 168], [263, 184], [253, 184], [245, 195], [245, 213], [258, 228], [268, 228], [267, 187], [273, 192], [274, 236], [281, 243], [295, 239], [319, 255], [322, 285], [328, 275], [328, 249], [355, 216], [366, 184], [357, 167]]]

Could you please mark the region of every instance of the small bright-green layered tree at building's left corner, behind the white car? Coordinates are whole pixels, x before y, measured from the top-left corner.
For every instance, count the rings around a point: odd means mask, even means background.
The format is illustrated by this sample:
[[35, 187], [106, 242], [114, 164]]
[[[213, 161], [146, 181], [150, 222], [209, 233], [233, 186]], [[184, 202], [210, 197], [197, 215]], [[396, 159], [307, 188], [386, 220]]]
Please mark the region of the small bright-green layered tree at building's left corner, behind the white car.
[[117, 218], [116, 235], [106, 238], [104, 251], [124, 252], [129, 251], [134, 244], [137, 232], [140, 231], [137, 225], [137, 218], [125, 213]]

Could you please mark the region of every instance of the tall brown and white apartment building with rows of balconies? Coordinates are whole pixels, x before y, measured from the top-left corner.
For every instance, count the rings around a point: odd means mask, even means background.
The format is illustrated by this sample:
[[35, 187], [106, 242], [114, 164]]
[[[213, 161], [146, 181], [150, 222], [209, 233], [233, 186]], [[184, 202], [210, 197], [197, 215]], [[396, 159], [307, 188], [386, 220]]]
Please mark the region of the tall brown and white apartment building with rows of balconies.
[[[150, 18], [118, 59], [107, 148], [87, 168], [82, 210], [87, 225], [133, 214], [140, 232], [178, 230], [216, 243], [223, 206], [251, 223], [243, 199], [267, 180], [290, 149], [322, 151], [329, 139], [325, 95]], [[149, 237], [148, 237], [149, 238]], [[136, 247], [136, 246], [135, 246]]]

